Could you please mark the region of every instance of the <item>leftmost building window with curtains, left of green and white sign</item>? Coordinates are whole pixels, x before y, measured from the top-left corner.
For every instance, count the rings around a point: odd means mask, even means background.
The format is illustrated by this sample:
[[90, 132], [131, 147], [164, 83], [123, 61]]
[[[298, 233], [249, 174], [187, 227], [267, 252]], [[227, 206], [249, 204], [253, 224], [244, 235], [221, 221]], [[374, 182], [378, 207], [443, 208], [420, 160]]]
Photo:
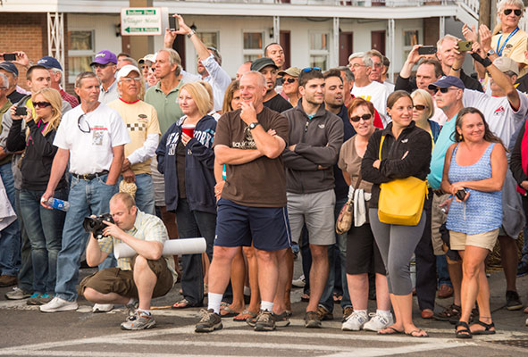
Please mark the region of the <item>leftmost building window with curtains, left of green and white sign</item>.
[[94, 31], [74, 30], [68, 32], [68, 81], [73, 83], [82, 71], [91, 71], [90, 63], [94, 59]]

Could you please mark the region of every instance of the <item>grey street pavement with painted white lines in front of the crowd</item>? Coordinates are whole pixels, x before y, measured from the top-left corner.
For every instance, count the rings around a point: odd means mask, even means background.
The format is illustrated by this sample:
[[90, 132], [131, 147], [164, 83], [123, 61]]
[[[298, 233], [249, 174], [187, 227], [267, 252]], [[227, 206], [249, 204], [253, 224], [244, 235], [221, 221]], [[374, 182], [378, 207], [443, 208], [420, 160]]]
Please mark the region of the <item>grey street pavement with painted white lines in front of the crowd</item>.
[[[296, 272], [299, 270], [296, 262]], [[93, 270], [81, 270], [81, 277]], [[298, 276], [298, 275], [296, 275]], [[528, 277], [518, 278], [517, 286], [528, 303]], [[334, 320], [323, 321], [321, 329], [304, 328], [306, 303], [300, 302], [302, 289], [292, 290], [293, 318], [288, 328], [273, 332], [255, 332], [245, 323], [224, 319], [223, 329], [197, 334], [194, 325], [199, 309], [154, 310], [156, 328], [146, 331], [122, 331], [124, 309], [92, 313], [91, 304], [80, 299], [80, 309], [46, 314], [25, 301], [7, 301], [0, 288], [0, 356], [527, 356], [528, 327], [523, 311], [507, 311], [502, 271], [490, 277], [492, 316], [498, 333], [457, 340], [448, 322], [423, 320], [415, 303], [415, 323], [429, 332], [429, 338], [378, 336], [371, 332], [340, 330], [341, 311], [334, 309]], [[162, 298], [158, 307], [170, 306], [180, 298], [180, 284]], [[452, 299], [437, 300], [437, 309]], [[370, 311], [375, 303], [369, 302]]]

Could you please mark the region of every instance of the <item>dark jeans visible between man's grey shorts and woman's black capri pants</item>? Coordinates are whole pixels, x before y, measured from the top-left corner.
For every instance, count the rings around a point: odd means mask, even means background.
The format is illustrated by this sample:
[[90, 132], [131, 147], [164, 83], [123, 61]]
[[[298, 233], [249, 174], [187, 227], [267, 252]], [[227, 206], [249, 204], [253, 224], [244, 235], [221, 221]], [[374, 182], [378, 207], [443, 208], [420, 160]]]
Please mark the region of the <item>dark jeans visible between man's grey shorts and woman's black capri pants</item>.
[[[334, 217], [337, 220], [339, 212], [343, 205], [347, 202], [347, 198], [341, 198], [336, 200]], [[326, 286], [324, 286], [323, 295], [321, 295], [321, 300], [319, 304], [323, 305], [326, 310], [333, 311], [333, 290], [336, 283], [336, 270], [335, 270], [335, 259], [334, 253], [335, 250], [339, 250], [340, 265], [341, 265], [341, 286], [343, 288], [343, 298], [341, 299], [341, 307], [345, 309], [347, 306], [352, 306], [350, 302], [350, 294], [348, 293], [348, 283], [347, 283], [347, 233], [339, 235], [336, 233], [336, 244], [328, 246], [328, 279], [326, 280]]]

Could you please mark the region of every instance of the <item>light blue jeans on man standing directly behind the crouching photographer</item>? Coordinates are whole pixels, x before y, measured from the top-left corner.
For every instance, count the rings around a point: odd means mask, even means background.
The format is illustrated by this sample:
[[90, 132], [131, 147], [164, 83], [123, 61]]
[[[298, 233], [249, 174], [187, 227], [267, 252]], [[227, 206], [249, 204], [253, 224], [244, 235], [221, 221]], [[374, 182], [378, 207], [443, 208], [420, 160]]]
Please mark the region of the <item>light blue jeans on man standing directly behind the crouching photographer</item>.
[[75, 301], [75, 285], [79, 279], [80, 257], [84, 252], [88, 233], [82, 228], [82, 221], [90, 214], [109, 212], [109, 201], [117, 192], [117, 185], [106, 185], [107, 175], [92, 180], [71, 178], [68, 202], [63, 228], [63, 244], [57, 256], [57, 281], [55, 295], [61, 299]]

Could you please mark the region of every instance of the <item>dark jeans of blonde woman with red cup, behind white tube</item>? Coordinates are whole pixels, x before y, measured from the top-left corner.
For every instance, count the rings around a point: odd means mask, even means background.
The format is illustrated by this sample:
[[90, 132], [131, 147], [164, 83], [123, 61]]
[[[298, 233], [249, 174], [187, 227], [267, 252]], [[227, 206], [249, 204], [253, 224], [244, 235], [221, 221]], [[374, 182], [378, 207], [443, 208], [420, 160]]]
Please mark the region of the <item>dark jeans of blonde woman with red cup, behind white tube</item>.
[[[186, 199], [178, 200], [176, 223], [180, 239], [204, 237], [207, 242], [205, 253], [209, 261], [213, 259], [214, 234], [216, 229], [216, 214], [190, 211]], [[201, 305], [204, 301], [204, 270], [202, 269], [202, 254], [183, 254], [181, 256], [183, 274], [181, 289], [191, 305]]]

